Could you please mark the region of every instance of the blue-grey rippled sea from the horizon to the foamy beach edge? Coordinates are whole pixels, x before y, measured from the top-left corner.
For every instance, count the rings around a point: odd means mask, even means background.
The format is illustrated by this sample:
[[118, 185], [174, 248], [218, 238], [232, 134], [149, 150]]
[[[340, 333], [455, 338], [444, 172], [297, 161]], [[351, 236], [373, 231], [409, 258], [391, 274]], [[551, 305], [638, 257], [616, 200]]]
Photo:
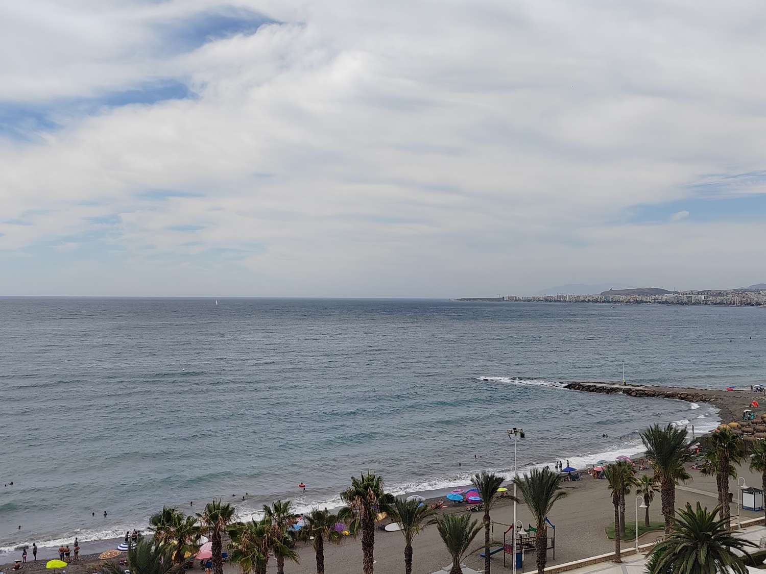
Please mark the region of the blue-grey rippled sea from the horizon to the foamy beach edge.
[[510, 477], [512, 427], [520, 470], [611, 461], [650, 423], [699, 434], [717, 411], [563, 383], [764, 383], [764, 341], [766, 308], [0, 298], [0, 550], [218, 497], [242, 518], [332, 507], [367, 471], [394, 494]]

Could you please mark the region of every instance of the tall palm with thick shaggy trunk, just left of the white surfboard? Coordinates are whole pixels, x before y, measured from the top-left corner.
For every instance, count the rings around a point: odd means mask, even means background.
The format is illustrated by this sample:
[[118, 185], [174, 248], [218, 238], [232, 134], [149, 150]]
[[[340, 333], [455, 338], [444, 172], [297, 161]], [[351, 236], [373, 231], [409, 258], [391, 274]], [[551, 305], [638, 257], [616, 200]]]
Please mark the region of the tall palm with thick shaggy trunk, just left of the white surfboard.
[[349, 530], [353, 533], [362, 530], [362, 572], [372, 574], [375, 563], [375, 517], [378, 513], [391, 510], [394, 497], [383, 491], [383, 477], [372, 472], [362, 474], [360, 478], [352, 477], [351, 486], [340, 493], [340, 497], [348, 506], [342, 508], [338, 516], [349, 523]]

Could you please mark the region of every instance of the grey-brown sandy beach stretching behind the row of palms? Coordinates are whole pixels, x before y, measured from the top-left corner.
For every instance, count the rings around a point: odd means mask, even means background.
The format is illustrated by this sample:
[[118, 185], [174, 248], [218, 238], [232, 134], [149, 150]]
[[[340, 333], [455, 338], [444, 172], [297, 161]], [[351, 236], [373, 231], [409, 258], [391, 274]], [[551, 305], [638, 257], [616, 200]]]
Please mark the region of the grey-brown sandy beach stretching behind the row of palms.
[[[614, 386], [611, 386], [614, 388]], [[655, 392], [678, 393], [684, 390], [670, 389], [665, 387], [639, 387], [629, 386], [620, 388], [620, 392], [630, 390], [630, 388], [644, 388]], [[695, 400], [709, 400], [721, 409], [722, 419], [728, 421], [735, 419], [735, 413], [741, 413], [741, 408], [747, 406], [757, 393], [748, 391], [737, 392], [717, 392], [706, 390], [686, 390], [694, 393]], [[601, 392], [601, 391], [597, 391]], [[672, 398], [668, 396], [668, 398]], [[763, 408], [758, 409], [760, 411]], [[639, 458], [640, 455], [633, 458]], [[676, 506], [683, 507], [687, 502], [694, 504], [701, 502], [708, 507], [714, 507], [717, 504], [715, 494], [715, 478], [703, 476], [699, 471], [690, 471], [692, 481], [680, 485], [676, 488]], [[745, 478], [749, 485], [760, 488], [761, 476], [751, 473], [748, 468], [739, 468], [738, 477]], [[553, 551], [548, 552], [548, 564], [558, 564], [570, 562], [576, 559], [582, 559], [596, 554], [608, 553], [614, 549], [614, 541], [609, 540], [604, 532], [607, 524], [610, 524], [614, 517], [614, 508], [611, 504], [611, 495], [607, 490], [607, 481], [591, 478], [590, 475], [583, 475], [580, 481], [563, 482], [562, 488], [568, 496], [558, 501], [549, 515], [552, 523], [556, 527], [556, 550], [555, 557]], [[731, 481], [730, 490], [735, 493], [737, 500], [736, 481]], [[511, 489], [512, 491], [512, 489]], [[432, 498], [429, 502], [436, 499]], [[627, 520], [635, 519], [635, 498], [629, 495], [627, 501]], [[440, 510], [442, 513], [466, 512], [466, 507], [462, 504], [451, 505]], [[732, 503], [732, 515], [737, 514], [736, 502]], [[740, 511], [743, 520], [748, 518], [762, 517], [761, 512], [753, 513], [748, 510]], [[473, 514], [476, 520], [481, 519], [481, 514]], [[512, 523], [513, 504], [507, 498], [501, 498], [496, 502], [492, 510], [492, 518], [495, 521], [494, 535], [502, 540], [502, 532]], [[517, 516], [519, 520], [528, 523], [529, 513], [523, 504], [517, 507]], [[655, 501], [650, 507], [651, 520], [661, 521], [660, 497], [656, 495]], [[639, 520], [643, 520], [643, 510], [639, 510]], [[647, 533], [640, 538], [640, 543], [647, 543], [653, 540], [659, 533]], [[481, 536], [480, 536], [481, 537]], [[479, 537], [479, 538], [480, 538]], [[97, 571], [97, 554], [116, 546], [120, 540], [102, 540], [91, 543], [82, 543], [80, 563], [70, 566], [67, 571], [70, 574], [88, 574]], [[625, 542], [624, 546], [630, 546], [632, 543]], [[286, 572], [314, 572], [315, 563], [313, 549], [305, 543], [299, 543], [300, 564], [289, 563], [286, 566]], [[401, 533], [387, 533], [378, 530], [375, 537], [375, 571], [382, 574], [398, 574], [403, 566], [404, 542]], [[3, 562], [10, 562], [19, 556], [8, 555], [8, 559]], [[38, 550], [38, 563], [28, 563], [25, 566], [26, 572], [41, 569], [44, 565], [44, 559], [55, 557], [55, 549], [41, 548]], [[5, 556], [4, 556], [5, 558]], [[31, 559], [31, 555], [29, 556]], [[534, 556], [529, 556], [525, 562], [525, 570], [533, 569]], [[474, 553], [466, 559], [468, 566], [480, 567], [483, 559], [480, 559], [478, 553]], [[351, 538], [345, 539], [339, 546], [326, 547], [326, 567], [329, 572], [337, 574], [357, 574], [361, 568], [362, 551], [359, 540]], [[438, 536], [435, 527], [430, 527], [418, 535], [414, 542], [414, 572], [426, 574], [434, 572], [442, 566], [449, 563], [449, 557], [444, 550], [444, 545]], [[496, 568], [502, 569], [502, 553], [493, 556], [493, 563]], [[510, 562], [508, 563], [510, 566]], [[2, 566], [5, 572], [8, 572], [12, 563]], [[226, 566], [228, 572], [237, 572], [234, 565]], [[270, 572], [273, 572], [275, 566], [270, 566]]]

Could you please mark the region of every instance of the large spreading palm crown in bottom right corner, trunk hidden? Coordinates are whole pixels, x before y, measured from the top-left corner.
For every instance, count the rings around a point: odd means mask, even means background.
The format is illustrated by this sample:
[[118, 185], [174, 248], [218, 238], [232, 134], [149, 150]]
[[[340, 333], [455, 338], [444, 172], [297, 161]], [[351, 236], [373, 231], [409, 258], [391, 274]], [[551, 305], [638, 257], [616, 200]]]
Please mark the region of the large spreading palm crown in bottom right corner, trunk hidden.
[[728, 572], [747, 574], [748, 568], [733, 550], [745, 553], [745, 548], [755, 546], [742, 540], [728, 530], [728, 518], [716, 517], [719, 507], [712, 512], [697, 503], [696, 510], [686, 504], [678, 511], [673, 532], [652, 548], [647, 562], [649, 574], [697, 574], [698, 572]]

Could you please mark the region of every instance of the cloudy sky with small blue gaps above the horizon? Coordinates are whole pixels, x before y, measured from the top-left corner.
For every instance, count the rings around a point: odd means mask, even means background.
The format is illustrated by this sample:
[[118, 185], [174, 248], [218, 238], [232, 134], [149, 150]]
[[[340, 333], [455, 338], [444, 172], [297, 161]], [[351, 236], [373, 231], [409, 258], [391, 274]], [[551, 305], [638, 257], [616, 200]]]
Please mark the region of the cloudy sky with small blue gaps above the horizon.
[[0, 6], [0, 295], [766, 282], [766, 5]]

